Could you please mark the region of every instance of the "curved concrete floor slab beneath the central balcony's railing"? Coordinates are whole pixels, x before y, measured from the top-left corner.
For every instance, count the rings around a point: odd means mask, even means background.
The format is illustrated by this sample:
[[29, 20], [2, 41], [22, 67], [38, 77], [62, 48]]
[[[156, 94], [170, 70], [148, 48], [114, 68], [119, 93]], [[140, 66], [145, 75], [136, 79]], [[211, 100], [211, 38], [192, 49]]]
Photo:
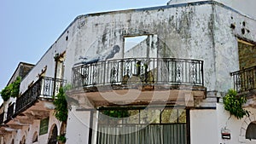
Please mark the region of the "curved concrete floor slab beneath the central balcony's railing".
[[206, 89], [181, 85], [178, 87], [167, 85], [122, 87], [121, 85], [113, 85], [91, 89], [72, 89], [68, 91], [67, 95], [79, 101], [80, 107], [87, 108], [149, 104], [195, 107], [197, 101], [202, 101], [206, 97]]

